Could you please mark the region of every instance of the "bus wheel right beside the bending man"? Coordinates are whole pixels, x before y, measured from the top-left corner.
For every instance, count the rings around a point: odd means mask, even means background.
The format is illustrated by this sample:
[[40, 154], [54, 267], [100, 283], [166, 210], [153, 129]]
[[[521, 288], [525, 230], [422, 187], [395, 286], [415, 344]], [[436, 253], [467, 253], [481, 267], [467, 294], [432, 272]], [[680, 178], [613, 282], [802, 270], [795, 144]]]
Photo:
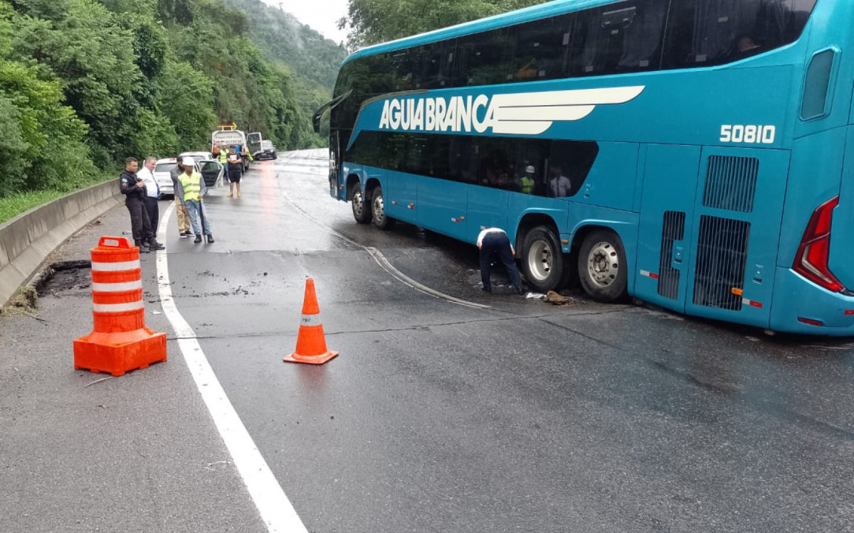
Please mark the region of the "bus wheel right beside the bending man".
[[558, 236], [548, 226], [535, 226], [522, 240], [522, 271], [529, 287], [547, 293], [564, 279], [564, 254]]

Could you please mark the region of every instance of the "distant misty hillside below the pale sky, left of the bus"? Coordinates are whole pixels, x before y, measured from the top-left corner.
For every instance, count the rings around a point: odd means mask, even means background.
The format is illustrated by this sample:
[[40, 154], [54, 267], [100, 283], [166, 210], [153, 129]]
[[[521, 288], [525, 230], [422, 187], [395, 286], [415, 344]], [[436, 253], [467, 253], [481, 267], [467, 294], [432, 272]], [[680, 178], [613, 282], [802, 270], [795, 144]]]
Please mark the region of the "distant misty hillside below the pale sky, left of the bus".
[[[302, 113], [312, 113], [330, 101], [338, 67], [347, 57], [334, 43], [296, 20], [294, 15], [260, 0], [225, 0], [249, 16], [249, 38], [268, 61], [282, 63], [294, 78], [296, 100]], [[321, 136], [326, 142], [326, 136]]]

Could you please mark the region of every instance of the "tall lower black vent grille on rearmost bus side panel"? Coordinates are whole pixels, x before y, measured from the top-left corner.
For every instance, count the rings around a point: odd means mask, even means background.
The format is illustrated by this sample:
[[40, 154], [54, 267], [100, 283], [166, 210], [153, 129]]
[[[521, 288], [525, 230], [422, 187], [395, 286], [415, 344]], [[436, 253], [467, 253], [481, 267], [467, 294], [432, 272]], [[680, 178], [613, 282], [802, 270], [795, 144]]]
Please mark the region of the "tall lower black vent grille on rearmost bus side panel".
[[741, 310], [741, 297], [733, 289], [744, 287], [750, 223], [703, 215], [699, 219], [697, 271], [693, 303], [726, 310]]

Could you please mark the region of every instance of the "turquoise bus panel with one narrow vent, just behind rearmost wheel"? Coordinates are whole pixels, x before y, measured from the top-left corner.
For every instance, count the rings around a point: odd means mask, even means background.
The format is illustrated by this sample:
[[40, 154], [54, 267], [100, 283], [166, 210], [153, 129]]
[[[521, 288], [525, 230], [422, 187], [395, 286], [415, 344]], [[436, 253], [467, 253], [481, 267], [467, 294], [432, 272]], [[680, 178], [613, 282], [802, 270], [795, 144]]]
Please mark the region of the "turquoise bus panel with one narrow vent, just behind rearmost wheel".
[[635, 296], [679, 312], [685, 310], [699, 161], [696, 146], [646, 146]]

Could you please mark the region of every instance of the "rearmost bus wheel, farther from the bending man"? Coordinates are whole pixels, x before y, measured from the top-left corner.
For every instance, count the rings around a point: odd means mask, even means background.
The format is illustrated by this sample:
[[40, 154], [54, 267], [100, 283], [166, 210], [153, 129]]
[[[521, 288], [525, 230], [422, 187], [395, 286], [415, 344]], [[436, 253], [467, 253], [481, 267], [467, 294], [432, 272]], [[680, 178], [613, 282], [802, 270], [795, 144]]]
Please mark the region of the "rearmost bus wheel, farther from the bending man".
[[597, 302], [625, 298], [629, 272], [623, 240], [611, 229], [596, 229], [584, 238], [578, 251], [578, 278]]

